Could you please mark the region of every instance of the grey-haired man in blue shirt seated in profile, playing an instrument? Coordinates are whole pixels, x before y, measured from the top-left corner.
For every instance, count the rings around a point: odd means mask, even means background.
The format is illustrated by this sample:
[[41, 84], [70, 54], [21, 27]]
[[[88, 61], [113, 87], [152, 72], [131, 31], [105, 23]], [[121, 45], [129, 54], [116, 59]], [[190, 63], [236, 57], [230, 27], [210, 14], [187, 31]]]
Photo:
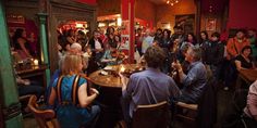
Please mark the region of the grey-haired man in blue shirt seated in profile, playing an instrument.
[[185, 53], [185, 60], [189, 63], [187, 75], [184, 74], [179, 62], [172, 63], [172, 67], [179, 72], [180, 81], [183, 85], [182, 95], [179, 101], [185, 103], [197, 103], [204, 87], [207, 84], [207, 72], [205, 65], [200, 61], [200, 48], [189, 47]]

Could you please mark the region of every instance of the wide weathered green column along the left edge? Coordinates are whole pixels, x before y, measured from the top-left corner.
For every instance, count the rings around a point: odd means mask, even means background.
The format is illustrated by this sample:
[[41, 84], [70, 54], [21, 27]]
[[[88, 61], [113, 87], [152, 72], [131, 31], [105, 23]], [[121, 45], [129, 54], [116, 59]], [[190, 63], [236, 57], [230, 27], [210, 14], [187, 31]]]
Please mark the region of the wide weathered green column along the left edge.
[[10, 52], [9, 35], [5, 23], [3, 2], [0, 1], [0, 98], [5, 128], [22, 128], [21, 104]]

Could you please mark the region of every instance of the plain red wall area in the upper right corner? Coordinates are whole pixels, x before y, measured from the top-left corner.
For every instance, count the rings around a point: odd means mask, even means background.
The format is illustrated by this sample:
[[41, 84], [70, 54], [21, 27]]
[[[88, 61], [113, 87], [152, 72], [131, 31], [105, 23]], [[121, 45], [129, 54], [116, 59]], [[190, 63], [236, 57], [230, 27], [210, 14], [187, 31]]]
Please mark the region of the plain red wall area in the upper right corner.
[[230, 28], [257, 29], [257, 0], [230, 0], [228, 30]]

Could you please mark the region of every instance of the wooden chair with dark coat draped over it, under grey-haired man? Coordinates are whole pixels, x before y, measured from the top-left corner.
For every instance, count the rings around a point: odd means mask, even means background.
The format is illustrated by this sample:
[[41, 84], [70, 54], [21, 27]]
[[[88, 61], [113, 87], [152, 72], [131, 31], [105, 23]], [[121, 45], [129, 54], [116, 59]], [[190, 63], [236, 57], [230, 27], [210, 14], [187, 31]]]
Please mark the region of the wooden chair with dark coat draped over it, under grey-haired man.
[[[204, 88], [198, 104], [178, 102], [175, 104], [175, 117], [183, 117], [195, 121], [197, 128], [211, 128], [217, 118], [217, 87], [215, 79], [209, 79]], [[178, 108], [186, 110], [186, 113], [178, 113]]]

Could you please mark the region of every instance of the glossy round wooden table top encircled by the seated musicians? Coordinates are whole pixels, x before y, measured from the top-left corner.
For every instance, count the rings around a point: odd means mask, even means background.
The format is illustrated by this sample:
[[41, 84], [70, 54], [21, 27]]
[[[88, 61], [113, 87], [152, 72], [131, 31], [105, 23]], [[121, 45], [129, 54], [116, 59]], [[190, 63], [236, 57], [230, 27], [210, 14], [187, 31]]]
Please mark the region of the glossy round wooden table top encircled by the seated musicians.
[[[136, 68], [136, 64], [125, 64], [123, 65], [125, 68]], [[119, 69], [119, 65], [117, 66], [111, 66], [113, 67], [113, 71], [118, 71]], [[98, 85], [98, 86], [102, 86], [102, 87], [111, 87], [111, 88], [121, 88], [122, 84], [121, 84], [121, 78], [120, 76], [115, 73], [112, 74], [111, 72], [107, 72], [108, 75], [102, 75], [101, 72], [105, 72], [105, 69], [99, 69], [97, 72], [94, 72], [93, 74], [89, 75], [90, 80]]]

